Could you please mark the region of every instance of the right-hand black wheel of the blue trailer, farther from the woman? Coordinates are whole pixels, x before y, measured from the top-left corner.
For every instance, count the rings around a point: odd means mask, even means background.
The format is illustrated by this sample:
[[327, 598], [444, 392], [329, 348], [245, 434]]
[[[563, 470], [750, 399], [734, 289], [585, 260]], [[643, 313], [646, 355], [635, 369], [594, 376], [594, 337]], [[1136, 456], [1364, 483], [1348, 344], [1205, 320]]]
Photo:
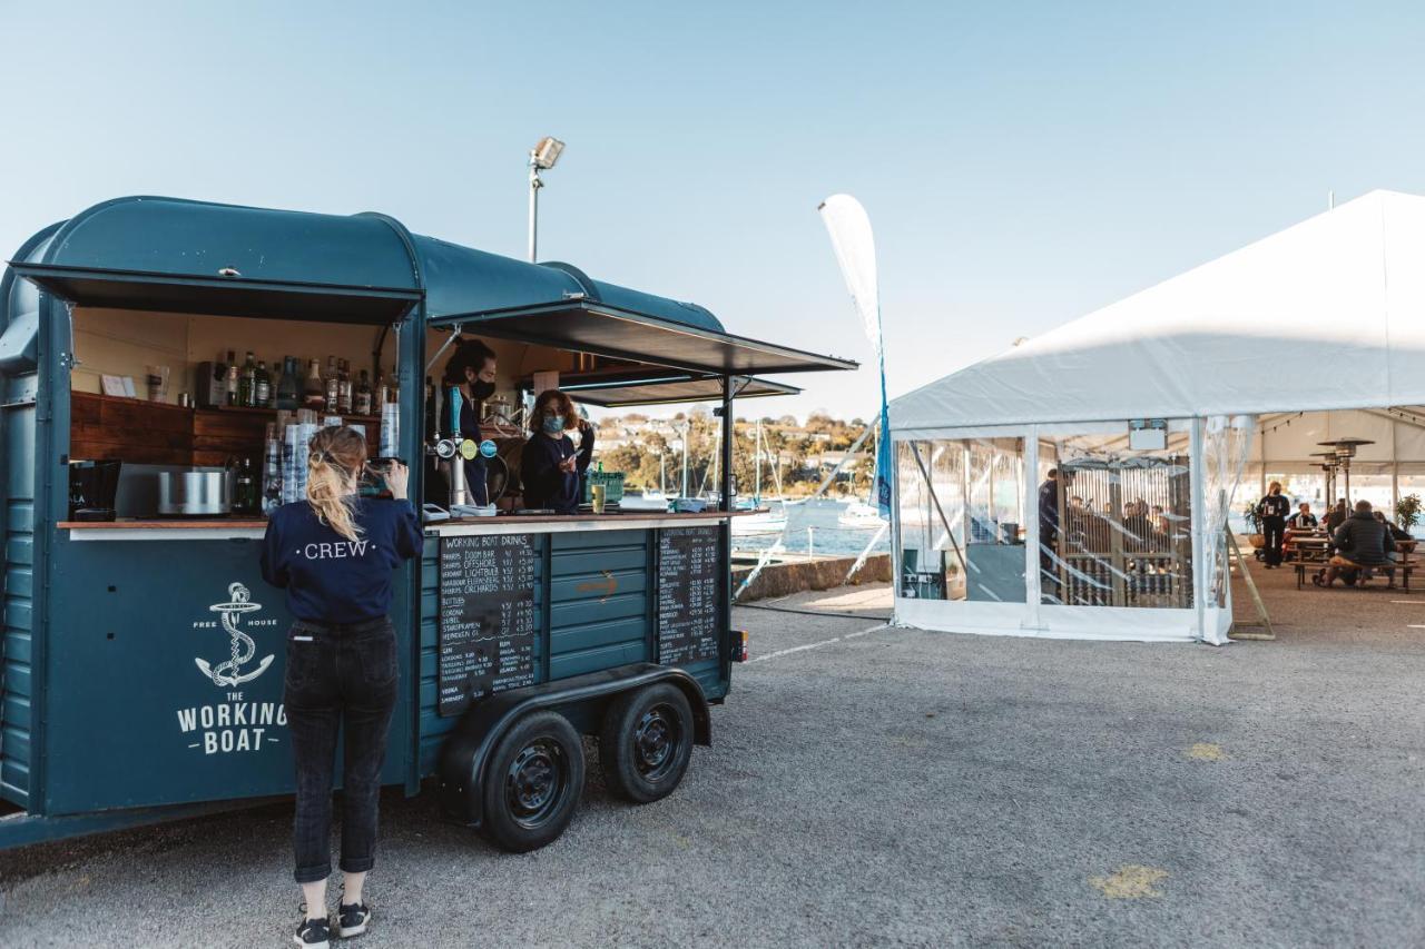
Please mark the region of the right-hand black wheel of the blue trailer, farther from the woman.
[[620, 695], [604, 712], [598, 762], [608, 789], [636, 804], [673, 794], [693, 758], [693, 707], [668, 683]]

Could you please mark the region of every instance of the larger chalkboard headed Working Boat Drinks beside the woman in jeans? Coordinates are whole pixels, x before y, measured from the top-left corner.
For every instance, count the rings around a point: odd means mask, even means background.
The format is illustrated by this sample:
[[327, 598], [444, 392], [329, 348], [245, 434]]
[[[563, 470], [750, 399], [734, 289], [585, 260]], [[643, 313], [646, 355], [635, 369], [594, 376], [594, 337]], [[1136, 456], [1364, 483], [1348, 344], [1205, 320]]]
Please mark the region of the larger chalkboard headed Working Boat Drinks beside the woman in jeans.
[[534, 683], [534, 539], [440, 540], [442, 715]]

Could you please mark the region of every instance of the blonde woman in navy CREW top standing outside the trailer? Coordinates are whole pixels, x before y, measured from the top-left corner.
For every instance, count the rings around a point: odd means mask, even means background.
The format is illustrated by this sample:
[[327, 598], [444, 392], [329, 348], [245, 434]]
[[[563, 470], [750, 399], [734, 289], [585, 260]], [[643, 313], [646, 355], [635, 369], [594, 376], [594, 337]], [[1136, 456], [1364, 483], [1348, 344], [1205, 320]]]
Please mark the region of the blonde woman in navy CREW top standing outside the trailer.
[[[299, 946], [366, 932], [362, 899], [376, 845], [376, 801], [386, 735], [396, 707], [396, 633], [390, 579], [420, 553], [420, 524], [406, 500], [406, 467], [379, 472], [392, 499], [361, 497], [366, 437], [322, 429], [308, 449], [306, 503], [284, 504], [268, 522], [262, 577], [286, 590], [296, 623], [286, 641], [282, 701], [296, 764], [296, 882], [306, 916]], [[345, 731], [342, 731], [345, 730]], [[345, 735], [342, 779], [342, 899], [338, 933], [326, 913], [332, 872], [332, 769]]]

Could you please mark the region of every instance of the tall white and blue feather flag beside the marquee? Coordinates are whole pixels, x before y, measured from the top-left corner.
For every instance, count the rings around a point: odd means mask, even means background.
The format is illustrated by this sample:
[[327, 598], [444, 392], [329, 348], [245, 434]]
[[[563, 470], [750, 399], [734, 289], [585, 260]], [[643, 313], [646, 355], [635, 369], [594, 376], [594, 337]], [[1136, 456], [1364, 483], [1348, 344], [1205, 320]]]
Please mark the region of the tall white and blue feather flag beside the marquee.
[[881, 289], [876, 285], [876, 239], [871, 234], [871, 218], [861, 202], [849, 194], [834, 194], [818, 208], [831, 234], [831, 248], [836, 254], [841, 276], [846, 281], [851, 301], [866, 331], [866, 339], [876, 353], [881, 370], [881, 437], [876, 439], [876, 474], [874, 494], [881, 517], [891, 520], [891, 413], [886, 408], [886, 356], [881, 341]]

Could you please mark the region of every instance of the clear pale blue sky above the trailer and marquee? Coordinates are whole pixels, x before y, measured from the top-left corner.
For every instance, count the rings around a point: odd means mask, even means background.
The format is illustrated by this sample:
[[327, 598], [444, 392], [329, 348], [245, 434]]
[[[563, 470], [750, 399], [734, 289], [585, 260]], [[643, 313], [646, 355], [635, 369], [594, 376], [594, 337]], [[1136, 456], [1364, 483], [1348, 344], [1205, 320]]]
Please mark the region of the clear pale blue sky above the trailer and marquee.
[[[891, 393], [1374, 188], [1425, 192], [1416, 3], [0, 0], [0, 254], [104, 198], [379, 209], [869, 361]], [[778, 412], [871, 415], [864, 370]], [[765, 403], [771, 409], [772, 403]]]

